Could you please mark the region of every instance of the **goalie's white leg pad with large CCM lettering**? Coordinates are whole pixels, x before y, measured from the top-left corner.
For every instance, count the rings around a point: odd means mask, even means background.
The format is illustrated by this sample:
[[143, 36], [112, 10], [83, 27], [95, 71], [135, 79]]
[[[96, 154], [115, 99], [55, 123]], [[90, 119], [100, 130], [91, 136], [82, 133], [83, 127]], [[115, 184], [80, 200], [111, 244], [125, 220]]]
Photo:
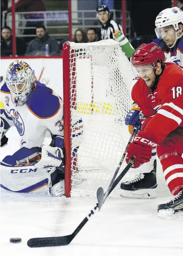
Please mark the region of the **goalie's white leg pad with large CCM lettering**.
[[35, 167], [40, 148], [21, 148], [1, 162], [1, 187], [12, 192], [46, 192], [48, 172]]

